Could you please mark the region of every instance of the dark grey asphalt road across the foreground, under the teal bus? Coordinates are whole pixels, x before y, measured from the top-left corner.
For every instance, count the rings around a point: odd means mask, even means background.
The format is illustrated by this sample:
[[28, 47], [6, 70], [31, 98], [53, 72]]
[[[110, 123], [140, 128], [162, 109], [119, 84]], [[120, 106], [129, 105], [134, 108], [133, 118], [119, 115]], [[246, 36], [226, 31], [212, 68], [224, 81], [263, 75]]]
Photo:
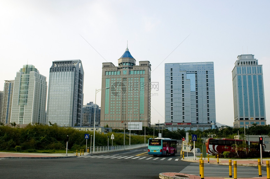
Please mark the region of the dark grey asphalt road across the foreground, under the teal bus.
[[189, 163], [181, 161], [180, 150], [175, 156], [154, 157], [147, 154], [145, 147], [95, 157], [5, 159], [0, 160], [0, 175], [1, 178], [158, 179], [159, 173], [179, 172]]

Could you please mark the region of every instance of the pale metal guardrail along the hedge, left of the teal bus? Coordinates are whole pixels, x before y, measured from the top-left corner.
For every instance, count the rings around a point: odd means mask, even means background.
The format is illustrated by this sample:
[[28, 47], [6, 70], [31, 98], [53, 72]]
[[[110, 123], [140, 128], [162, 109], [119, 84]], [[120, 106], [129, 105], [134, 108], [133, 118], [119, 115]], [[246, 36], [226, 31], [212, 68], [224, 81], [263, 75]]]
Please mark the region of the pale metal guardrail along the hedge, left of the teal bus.
[[95, 148], [91, 147], [90, 153], [103, 153], [103, 152], [112, 152], [112, 151], [124, 151], [130, 149], [136, 149], [141, 147], [146, 147], [148, 144], [133, 144], [125, 146], [97, 146]]

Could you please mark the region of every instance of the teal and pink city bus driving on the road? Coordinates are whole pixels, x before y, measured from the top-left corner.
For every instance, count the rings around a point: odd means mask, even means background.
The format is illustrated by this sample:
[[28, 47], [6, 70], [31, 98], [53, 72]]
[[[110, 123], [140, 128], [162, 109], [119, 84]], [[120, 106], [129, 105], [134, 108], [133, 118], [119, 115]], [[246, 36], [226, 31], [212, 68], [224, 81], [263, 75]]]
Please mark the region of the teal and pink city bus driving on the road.
[[175, 155], [177, 153], [177, 141], [170, 138], [150, 138], [148, 140], [149, 155]]

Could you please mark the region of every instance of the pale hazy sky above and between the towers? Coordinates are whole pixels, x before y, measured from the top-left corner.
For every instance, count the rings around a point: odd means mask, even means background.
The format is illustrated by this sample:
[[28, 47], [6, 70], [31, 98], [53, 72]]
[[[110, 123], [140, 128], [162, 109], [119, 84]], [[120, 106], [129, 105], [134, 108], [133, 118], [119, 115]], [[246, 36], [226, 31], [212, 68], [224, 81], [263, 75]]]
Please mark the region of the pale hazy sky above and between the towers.
[[214, 62], [216, 121], [233, 126], [231, 72], [238, 55], [253, 54], [263, 68], [267, 119], [269, 7], [265, 0], [0, 0], [0, 90], [25, 64], [48, 82], [52, 61], [80, 59], [84, 104], [95, 102], [102, 63], [117, 66], [128, 41], [137, 64], [150, 61], [151, 81], [159, 85], [151, 91], [152, 124], [165, 121], [164, 64]]

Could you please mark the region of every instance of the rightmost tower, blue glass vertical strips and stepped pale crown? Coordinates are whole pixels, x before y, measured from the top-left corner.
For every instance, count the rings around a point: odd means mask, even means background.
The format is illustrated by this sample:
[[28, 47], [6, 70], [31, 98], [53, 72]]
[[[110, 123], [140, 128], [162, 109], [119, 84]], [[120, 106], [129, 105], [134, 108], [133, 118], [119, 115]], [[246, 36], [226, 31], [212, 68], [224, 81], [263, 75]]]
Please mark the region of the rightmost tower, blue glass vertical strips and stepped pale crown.
[[234, 127], [266, 125], [262, 65], [254, 55], [238, 55], [232, 71]]

